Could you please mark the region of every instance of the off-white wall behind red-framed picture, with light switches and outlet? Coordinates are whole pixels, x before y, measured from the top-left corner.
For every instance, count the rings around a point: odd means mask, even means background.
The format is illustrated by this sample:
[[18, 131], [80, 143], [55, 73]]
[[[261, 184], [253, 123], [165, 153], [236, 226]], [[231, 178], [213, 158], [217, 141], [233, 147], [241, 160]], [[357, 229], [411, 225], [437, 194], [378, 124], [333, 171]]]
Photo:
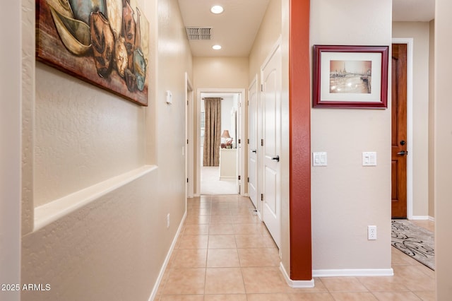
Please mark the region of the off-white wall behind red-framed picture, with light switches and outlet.
[[[311, 1], [311, 45], [389, 46], [391, 9], [390, 0]], [[328, 153], [328, 166], [311, 170], [314, 276], [392, 272], [390, 107], [311, 110], [311, 150]], [[363, 151], [376, 151], [376, 167], [362, 167]], [[378, 240], [367, 240], [367, 225]]]

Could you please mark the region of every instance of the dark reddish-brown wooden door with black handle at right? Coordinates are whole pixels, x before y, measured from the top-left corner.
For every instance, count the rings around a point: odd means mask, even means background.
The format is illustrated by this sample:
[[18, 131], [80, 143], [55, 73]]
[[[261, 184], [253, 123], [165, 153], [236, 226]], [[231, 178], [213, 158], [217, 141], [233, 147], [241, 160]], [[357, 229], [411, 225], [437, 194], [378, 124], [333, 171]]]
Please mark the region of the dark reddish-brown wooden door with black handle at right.
[[407, 218], [407, 45], [393, 44], [391, 216]]

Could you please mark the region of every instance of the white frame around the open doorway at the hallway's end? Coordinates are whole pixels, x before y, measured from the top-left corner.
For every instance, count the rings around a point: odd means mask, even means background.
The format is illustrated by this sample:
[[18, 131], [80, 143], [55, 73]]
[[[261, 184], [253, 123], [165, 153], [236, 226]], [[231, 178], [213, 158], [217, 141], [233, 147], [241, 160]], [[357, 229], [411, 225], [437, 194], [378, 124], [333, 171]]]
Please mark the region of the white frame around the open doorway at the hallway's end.
[[[240, 194], [246, 196], [244, 189], [244, 179], [246, 178], [245, 171], [245, 153], [246, 145], [244, 141], [246, 139], [246, 129], [245, 129], [245, 118], [246, 118], [246, 106], [244, 106], [245, 100], [245, 89], [241, 88], [198, 88], [196, 90], [196, 193], [195, 196], [201, 195], [201, 93], [235, 93], [240, 94], [239, 110], [242, 110], [242, 114], [239, 118], [239, 125], [237, 126], [239, 131], [239, 139], [241, 146], [237, 146], [238, 159], [239, 159], [239, 170], [238, 175], [240, 175], [239, 185]], [[237, 141], [238, 142], [238, 141]]]

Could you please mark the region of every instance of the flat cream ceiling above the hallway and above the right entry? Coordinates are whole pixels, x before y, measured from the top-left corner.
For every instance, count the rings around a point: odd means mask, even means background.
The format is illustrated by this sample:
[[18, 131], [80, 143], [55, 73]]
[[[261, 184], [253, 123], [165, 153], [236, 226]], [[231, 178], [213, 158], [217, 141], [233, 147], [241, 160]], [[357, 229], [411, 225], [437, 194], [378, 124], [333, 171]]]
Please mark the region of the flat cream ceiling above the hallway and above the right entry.
[[[269, 0], [178, 0], [186, 27], [210, 27], [211, 40], [190, 40], [194, 57], [248, 57]], [[393, 20], [429, 21], [435, 0], [393, 0]], [[225, 11], [210, 13], [220, 4]], [[212, 46], [222, 46], [213, 50]]]

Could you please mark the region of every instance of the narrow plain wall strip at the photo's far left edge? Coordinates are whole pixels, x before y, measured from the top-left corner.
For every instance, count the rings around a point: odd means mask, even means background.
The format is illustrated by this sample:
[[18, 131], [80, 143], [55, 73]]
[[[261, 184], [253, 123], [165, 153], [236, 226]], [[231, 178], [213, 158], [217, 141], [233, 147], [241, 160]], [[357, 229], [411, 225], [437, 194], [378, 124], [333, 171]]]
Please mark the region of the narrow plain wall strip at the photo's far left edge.
[[[20, 283], [20, 1], [0, 11], [0, 283]], [[8, 47], [5, 47], [8, 45]], [[0, 291], [1, 300], [20, 300]]]

